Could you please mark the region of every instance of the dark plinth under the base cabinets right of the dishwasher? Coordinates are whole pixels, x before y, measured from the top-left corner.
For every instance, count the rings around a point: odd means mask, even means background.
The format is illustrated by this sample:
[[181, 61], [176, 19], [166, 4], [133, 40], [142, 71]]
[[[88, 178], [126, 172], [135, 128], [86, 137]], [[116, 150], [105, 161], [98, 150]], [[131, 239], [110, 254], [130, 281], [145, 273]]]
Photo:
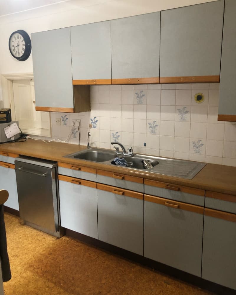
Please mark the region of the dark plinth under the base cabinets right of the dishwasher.
[[235, 295], [236, 294], [235, 290], [233, 290], [233, 289], [224, 287], [224, 286], [216, 284], [216, 283], [212, 283], [210, 281], [199, 278], [198, 276], [194, 276], [190, 273], [186, 273], [185, 271], [180, 271], [176, 268], [173, 268], [171, 266], [167, 266], [163, 263], [159, 263], [159, 262], [154, 261], [152, 259], [143, 257], [141, 255], [132, 253], [132, 252], [124, 250], [122, 248], [119, 248], [119, 247], [110, 245], [108, 243], [99, 241], [99, 240], [94, 239], [92, 237], [88, 237], [88, 236], [80, 234], [78, 232], [74, 232], [73, 230], [65, 229], [65, 235], [67, 235], [69, 237], [73, 237], [73, 238], [80, 240], [82, 242], [85, 242], [87, 244], [93, 245], [95, 247], [101, 248], [101, 249], [106, 250], [108, 252], [111, 252], [112, 254], [122, 256], [128, 260], [132, 260], [133, 262], [140, 263], [143, 266], [147, 266], [147, 267], [152, 268], [156, 271], [160, 271], [160, 272], [165, 273], [169, 276], [177, 278], [181, 281], [191, 283], [201, 289], [205, 289], [205, 290], [214, 292], [219, 295]]

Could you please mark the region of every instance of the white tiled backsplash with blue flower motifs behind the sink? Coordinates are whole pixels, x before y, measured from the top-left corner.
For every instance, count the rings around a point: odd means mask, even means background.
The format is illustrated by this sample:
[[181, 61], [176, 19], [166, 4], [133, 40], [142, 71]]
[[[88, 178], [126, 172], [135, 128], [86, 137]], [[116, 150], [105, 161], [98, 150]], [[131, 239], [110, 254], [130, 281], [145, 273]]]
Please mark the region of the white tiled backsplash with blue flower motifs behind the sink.
[[[101, 85], [90, 90], [91, 112], [51, 113], [53, 139], [65, 140], [73, 119], [80, 119], [81, 145], [87, 145], [90, 131], [95, 147], [113, 149], [110, 142], [119, 141], [136, 153], [236, 166], [236, 123], [217, 121], [219, 83]], [[204, 94], [200, 104], [196, 93]], [[66, 125], [62, 117], [68, 118]], [[90, 119], [97, 120], [95, 128], [89, 128]], [[67, 142], [78, 144], [78, 133]]]

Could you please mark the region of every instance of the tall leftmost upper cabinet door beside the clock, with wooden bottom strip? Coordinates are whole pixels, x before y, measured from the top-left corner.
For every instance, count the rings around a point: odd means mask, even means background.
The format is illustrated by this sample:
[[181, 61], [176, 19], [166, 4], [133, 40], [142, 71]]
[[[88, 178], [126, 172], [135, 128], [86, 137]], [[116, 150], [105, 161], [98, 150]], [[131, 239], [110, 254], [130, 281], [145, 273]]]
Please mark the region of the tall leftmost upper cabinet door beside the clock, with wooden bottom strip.
[[70, 28], [33, 33], [31, 40], [36, 110], [73, 112]]

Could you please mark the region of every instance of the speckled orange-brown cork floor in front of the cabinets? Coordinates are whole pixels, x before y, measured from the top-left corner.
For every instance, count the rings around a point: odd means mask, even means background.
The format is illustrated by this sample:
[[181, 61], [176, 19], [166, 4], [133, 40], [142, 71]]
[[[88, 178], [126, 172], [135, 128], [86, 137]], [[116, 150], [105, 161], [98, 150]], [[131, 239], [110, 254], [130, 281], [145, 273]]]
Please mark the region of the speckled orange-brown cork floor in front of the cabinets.
[[5, 295], [213, 294], [70, 237], [57, 239], [5, 214], [12, 279]]

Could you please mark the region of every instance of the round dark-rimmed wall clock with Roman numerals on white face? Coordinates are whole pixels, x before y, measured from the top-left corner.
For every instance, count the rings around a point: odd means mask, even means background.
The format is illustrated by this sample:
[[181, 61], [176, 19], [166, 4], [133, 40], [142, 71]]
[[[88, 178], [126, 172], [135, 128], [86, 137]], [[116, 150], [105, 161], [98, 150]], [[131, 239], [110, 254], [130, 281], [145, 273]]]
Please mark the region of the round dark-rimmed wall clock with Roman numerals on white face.
[[31, 53], [31, 40], [27, 32], [17, 30], [9, 38], [9, 50], [11, 55], [19, 61], [27, 60]]

